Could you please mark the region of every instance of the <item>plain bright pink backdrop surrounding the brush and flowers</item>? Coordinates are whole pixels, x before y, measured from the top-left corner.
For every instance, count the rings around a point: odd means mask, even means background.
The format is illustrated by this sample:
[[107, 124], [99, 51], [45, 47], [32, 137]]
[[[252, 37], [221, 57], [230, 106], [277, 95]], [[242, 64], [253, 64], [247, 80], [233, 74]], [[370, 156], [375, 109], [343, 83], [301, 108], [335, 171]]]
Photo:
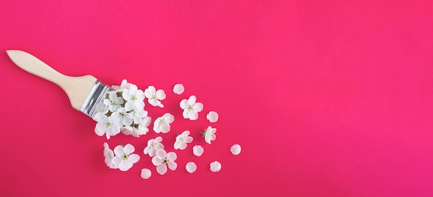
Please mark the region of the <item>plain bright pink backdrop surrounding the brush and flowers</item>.
[[[433, 196], [432, 10], [432, 1], [3, 1], [0, 196]], [[164, 109], [145, 109], [153, 120], [174, 114], [167, 151], [176, 132], [192, 131], [178, 169], [160, 176], [142, 153], [154, 131], [95, 135], [62, 89], [15, 66], [7, 49], [66, 75], [165, 90]], [[205, 106], [195, 122], [178, 107], [190, 95]], [[212, 145], [198, 133], [208, 125], [218, 129]], [[141, 160], [108, 169], [104, 142], [131, 143]]]

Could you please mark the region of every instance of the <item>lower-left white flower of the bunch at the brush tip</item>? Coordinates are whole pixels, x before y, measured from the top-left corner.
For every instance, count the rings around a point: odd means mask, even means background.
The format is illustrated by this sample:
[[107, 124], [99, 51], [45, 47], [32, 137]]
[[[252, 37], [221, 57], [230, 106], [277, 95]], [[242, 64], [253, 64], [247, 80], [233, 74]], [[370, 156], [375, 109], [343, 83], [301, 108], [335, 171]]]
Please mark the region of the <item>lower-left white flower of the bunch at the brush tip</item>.
[[107, 115], [97, 113], [95, 120], [98, 122], [95, 126], [96, 135], [102, 136], [105, 134], [107, 135], [107, 139], [110, 139], [110, 136], [120, 133], [122, 123], [119, 118], [114, 116], [107, 117]]

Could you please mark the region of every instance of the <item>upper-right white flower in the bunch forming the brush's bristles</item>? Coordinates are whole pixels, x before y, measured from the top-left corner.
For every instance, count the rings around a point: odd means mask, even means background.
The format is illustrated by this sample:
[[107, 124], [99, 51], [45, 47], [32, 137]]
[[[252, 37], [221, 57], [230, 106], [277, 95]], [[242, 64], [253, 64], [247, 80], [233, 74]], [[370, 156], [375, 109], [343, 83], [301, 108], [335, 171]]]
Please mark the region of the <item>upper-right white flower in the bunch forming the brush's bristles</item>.
[[128, 89], [122, 91], [122, 97], [127, 101], [125, 109], [131, 111], [132, 109], [143, 109], [145, 107], [145, 93], [138, 90], [136, 85], [129, 86]]

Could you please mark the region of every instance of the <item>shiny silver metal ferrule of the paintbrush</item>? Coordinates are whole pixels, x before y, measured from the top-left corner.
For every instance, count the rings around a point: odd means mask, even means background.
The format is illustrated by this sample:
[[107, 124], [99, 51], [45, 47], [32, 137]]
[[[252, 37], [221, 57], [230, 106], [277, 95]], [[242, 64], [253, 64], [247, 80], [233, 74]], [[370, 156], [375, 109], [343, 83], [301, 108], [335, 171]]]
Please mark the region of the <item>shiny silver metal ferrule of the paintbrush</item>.
[[109, 90], [109, 86], [106, 86], [97, 80], [95, 84], [93, 84], [93, 87], [84, 101], [80, 111], [93, 118], [96, 113], [97, 104], [102, 102], [105, 97], [107, 97]]

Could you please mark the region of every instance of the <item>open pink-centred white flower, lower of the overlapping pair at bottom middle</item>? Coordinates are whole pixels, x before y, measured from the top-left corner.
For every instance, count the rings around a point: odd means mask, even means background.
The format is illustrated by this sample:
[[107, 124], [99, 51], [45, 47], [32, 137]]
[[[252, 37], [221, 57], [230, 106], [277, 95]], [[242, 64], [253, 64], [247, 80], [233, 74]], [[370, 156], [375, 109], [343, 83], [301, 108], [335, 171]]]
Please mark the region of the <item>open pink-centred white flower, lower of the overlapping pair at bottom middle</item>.
[[160, 175], [163, 175], [167, 172], [167, 165], [171, 170], [175, 170], [177, 168], [177, 164], [174, 162], [176, 159], [176, 153], [167, 153], [164, 149], [159, 149], [156, 151], [156, 156], [152, 158], [152, 163], [156, 166], [156, 171]]

